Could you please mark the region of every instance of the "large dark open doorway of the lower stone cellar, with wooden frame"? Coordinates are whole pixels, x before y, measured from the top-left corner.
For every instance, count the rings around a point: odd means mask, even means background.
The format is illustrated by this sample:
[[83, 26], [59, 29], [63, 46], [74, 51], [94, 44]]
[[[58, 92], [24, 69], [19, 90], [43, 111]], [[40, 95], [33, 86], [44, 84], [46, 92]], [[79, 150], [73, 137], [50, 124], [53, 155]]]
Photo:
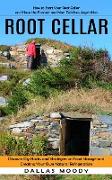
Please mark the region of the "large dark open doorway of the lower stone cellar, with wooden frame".
[[60, 154], [89, 155], [91, 118], [64, 119], [61, 123]]

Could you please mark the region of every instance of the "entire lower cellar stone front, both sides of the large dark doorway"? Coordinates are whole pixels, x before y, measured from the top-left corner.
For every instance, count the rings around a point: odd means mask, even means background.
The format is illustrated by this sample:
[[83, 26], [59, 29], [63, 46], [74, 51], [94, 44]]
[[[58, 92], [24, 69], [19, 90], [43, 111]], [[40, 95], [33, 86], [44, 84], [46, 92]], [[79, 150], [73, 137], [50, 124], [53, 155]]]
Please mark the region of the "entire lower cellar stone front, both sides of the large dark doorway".
[[[29, 140], [35, 134], [46, 136], [50, 147], [49, 154], [59, 154], [61, 120], [62, 114], [50, 113], [42, 117], [29, 117], [21, 123], [11, 125], [9, 129], [13, 134], [25, 136]], [[91, 123], [90, 155], [112, 155], [112, 124], [102, 122], [102, 118], [95, 115]]]

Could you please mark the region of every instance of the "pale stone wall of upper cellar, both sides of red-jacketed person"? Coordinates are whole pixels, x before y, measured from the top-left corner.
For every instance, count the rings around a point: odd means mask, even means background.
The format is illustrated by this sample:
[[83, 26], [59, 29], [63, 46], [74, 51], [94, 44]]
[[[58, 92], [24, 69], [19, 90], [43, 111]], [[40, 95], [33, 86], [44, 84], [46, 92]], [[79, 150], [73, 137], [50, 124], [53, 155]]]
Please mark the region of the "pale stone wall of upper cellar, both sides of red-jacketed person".
[[[26, 68], [26, 45], [16, 45], [11, 47], [11, 57], [14, 59], [18, 67]], [[42, 45], [40, 48], [41, 51], [41, 61], [47, 62], [50, 66], [57, 66], [59, 61], [64, 57], [69, 58], [69, 53], [64, 53], [61, 49], [55, 49], [54, 47], [48, 45]]]

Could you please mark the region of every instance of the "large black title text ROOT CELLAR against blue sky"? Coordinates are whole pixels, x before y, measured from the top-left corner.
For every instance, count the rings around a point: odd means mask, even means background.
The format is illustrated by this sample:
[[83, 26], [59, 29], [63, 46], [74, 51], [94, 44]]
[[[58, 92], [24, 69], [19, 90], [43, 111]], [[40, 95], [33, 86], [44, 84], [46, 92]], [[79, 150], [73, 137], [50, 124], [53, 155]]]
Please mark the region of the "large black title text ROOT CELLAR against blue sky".
[[[5, 19], [5, 34], [44, 34], [46, 19]], [[47, 25], [47, 24], [46, 24]], [[51, 33], [59, 34], [108, 34], [107, 19], [53, 19]]]

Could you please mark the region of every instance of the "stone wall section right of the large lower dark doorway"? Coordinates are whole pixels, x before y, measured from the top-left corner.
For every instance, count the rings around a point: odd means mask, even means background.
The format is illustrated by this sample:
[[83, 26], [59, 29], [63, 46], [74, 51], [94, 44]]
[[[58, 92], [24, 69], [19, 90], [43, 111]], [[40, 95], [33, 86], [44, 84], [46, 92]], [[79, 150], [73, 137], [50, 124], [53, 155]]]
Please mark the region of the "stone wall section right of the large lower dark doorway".
[[112, 155], [112, 116], [93, 116], [90, 155]]

